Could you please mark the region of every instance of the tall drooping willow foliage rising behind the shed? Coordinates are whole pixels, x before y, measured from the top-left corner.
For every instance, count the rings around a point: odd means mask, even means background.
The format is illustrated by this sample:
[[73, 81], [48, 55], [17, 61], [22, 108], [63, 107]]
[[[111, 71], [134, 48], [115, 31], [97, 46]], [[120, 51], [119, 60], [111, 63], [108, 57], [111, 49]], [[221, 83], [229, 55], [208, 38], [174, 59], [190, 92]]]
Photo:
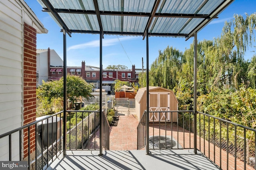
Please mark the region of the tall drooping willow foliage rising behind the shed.
[[[198, 92], [207, 94], [212, 88], [239, 89], [240, 84], [254, 81], [253, 65], [244, 60], [246, 50], [255, 41], [256, 14], [234, 15], [226, 22], [220, 37], [198, 42]], [[167, 47], [159, 51], [149, 72], [150, 85], [176, 90], [191, 90], [193, 84], [194, 45], [185, 50]], [[253, 63], [253, 61], [252, 61]], [[250, 67], [248, 67], [250, 64]], [[248, 68], [252, 68], [250, 72]], [[146, 76], [139, 82], [146, 85]], [[253, 86], [254, 83], [249, 85]]]

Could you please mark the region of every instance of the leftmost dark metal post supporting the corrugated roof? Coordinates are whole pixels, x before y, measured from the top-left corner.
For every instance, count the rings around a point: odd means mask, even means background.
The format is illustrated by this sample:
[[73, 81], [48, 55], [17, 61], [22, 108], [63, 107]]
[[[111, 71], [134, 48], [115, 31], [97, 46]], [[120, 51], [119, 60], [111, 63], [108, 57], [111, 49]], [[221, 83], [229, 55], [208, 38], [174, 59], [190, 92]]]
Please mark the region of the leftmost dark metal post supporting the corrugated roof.
[[67, 53], [66, 53], [66, 30], [63, 28], [63, 155], [66, 155], [67, 139]]

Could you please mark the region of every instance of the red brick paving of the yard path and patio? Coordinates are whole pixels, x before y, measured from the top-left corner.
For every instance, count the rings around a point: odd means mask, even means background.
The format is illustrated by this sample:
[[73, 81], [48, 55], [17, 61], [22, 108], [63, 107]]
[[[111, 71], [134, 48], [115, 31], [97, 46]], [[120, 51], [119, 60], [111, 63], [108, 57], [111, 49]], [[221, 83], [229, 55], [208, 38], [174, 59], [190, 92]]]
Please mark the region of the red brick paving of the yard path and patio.
[[[121, 115], [119, 117], [118, 125], [110, 127], [110, 150], [136, 150], [137, 149], [137, 125], [138, 119], [130, 114]], [[165, 136], [165, 126], [160, 126], [160, 135]], [[194, 134], [189, 133], [188, 130], [184, 130], [183, 128], [178, 128], [179, 132], [177, 132], [177, 124], [173, 124], [172, 132], [171, 126], [167, 126], [166, 136], [172, 136], [183, 148], [193, 148], [194, 146]], [[153, 126], [150, 125], [149, 128], [150, 136], [153, 136]], [[154, 125], [154, 136], [159, 135], [159, 125]], [[199, 142], [200, 137], [197, 136], [197, 148], [200, 148], [201, 143], [201, 152], [205, 154], [208, 158], [214, 161], [214, 145], [210, 143], [210, 154], [208, 151], [208, 141], [205, 141], [201, 138], [201, 142]], [[96, 142], [94, 142], [94, 140]], [[90, 141], [90, 149], [94, 150], [95, 148], [99, 149], [99, 131], [96, 132], [96, 138], [92, 138]], [[205, 146], [205, 147], [204, 147]], [[224, 150], [221, 150], [221, 168], [223, 170], [234, 170], [234, 156], [228, 154], [228, 168], [227, 168], [227, 153]], [[215, 164], [220, 166], [220, 148], [215, 146]], [[243, 170], [244, 162], [237, 160], [236, 161], [236, 169]], [[246, 165], [246, 170], [254, 170], [251, 166]]]

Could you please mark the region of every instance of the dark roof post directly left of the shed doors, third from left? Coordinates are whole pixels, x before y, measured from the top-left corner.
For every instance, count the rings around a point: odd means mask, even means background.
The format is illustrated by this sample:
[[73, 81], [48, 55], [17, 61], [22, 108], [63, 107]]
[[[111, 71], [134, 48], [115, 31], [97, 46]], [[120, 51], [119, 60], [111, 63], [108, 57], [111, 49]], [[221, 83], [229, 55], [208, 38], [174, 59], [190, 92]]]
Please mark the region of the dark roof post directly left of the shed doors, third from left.
[[146, 55], [147, 55], [147, 113], [146, 113], [146, 154], [149, 154], [149, 59], [148, 59], [148, 29], [146, 30]]

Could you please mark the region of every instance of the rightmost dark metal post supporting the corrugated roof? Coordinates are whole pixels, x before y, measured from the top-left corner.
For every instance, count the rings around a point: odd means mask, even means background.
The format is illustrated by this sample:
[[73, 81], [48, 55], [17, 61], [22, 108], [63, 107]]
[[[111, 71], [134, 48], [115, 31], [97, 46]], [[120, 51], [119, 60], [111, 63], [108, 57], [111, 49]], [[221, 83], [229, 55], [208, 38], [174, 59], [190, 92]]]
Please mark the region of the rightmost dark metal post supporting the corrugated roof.
[[197, 32], [194, 33], [194, 153], [197, 153], [197, 124], [196, 124], [196, 97], [197, 97]]

